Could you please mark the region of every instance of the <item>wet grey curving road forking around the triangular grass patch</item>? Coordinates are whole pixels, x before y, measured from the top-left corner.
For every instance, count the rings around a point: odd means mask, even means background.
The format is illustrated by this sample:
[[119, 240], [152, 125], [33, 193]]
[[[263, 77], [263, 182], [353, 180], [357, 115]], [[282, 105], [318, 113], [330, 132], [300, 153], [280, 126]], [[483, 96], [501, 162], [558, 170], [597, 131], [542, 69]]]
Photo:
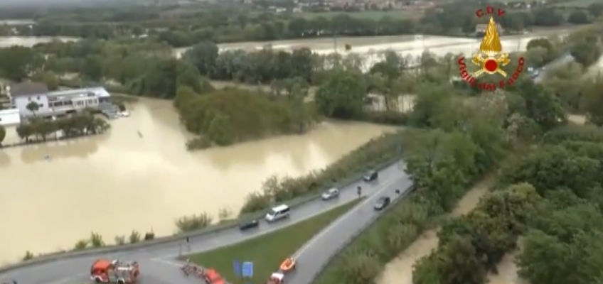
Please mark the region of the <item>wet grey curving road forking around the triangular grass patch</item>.
[[[328, 209], [337, 207], [357, 198], [356, 187], [363, 187], [363, 195], [368, 198], [331, 223], [331, 225], [314, 236], [304, 247], [297, 252], [298, 268], [294, 273], [287, 275], [287, 283], [308, 284], [318, 273], [321, 267], [329, 261], [338, 249], [359, 229], [373, 222], [378, 212], [373, 211], [373, 202], [382, 195], [395, 196], [395, 189], [402, 191], [410, 188], [410, 178], [404, 173], [405, 164], [398, 162], [388, 168], [380, 170], [379, 179], [374, 182], [357, 181], [341, 188], [338, 200], [323, 202], [309, 202], [292, 210], [291, 218], [275, 224], [260, 223], [260, 228], [241, 232], [238, 228], [218, 231], [190, 238], [191, 253], [210, 251], [221, 246], [236, 244], [240, 241], [251, 239], [255, 236], [267, 234], [271, 231], [290, 226], [304, 219], [309, 219], [321, 214]], [[20, 284], [73, 284], [90, 282], [88, 271], [93, 261], [100, 257], [121, 258], [126, 261], [138, 261], [141, 266], [141, 282], [145, 284], [173, 284], [198, 283], [194, 278], [185, 278], [181, 271], [174, 266], [181, 266], [175, 258], [180, 251], [181, 242], [174, 241], [168, 244], [146, 246], [131, 251], [117, 253], [99, 253], [95, 256], [65, 256], [57, 261], [41, 263], [36, 266], [15, 268], [11, 271], [0, 273], [0, 282], [15, 279]], [[188, 251], [187, 251], [188, 253]], [[277, 269], [279, 263], [274, 263]]]

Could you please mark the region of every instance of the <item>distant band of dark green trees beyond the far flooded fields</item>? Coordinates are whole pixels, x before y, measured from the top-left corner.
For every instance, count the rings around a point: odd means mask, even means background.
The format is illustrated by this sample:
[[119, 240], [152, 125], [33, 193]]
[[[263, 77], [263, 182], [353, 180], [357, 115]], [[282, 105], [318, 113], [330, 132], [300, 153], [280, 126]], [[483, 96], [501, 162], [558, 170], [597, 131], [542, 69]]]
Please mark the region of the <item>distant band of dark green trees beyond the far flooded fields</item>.
[[[479, 4], [481, 5], [481, 4]], [[38, 16], [33, 29], [23, 28], [21, 35], [70, 36], [77, 38], [130, 38], [145, 35], [145, 40], [165, 42], [173, 47], [195, 45], [203, 40], [232, 43], [252, 40], [282, 40], [336, 36], [377, 36], [406, 34], [469, 35], [483, 19], [475, 17], [475, 3], [440, 4], [425, 11], [418, 20], [383, 16], [373, 20], [341, 13], [333, 17], [304, 18], [292, 13], [257, 13], [251, 15], [240, 7], [209, 7], [196, 13], [176, 13], [160, 17], [163, 11], [149, 11], [148, 7], [129, 11], [52, 11]], [[501, 4], [498, 4], [501, 5]], [[503, 7], [506, 8], [506, 7]], [[112, 14], [106, 21], [92, 21], [99, 15]], [[561, 26], [565, 23], [590, 23], [601, 16], [601, 4], [587, 9], [576, 9], [566, 15], [565, 10], [550, 6], [511, 10], [498, 19], [506, 31], [523, 31], [535, 26]], [[129, 18], [129, 21], [123, 19]], [[11, 31], [6, 30], [6, 33]]]

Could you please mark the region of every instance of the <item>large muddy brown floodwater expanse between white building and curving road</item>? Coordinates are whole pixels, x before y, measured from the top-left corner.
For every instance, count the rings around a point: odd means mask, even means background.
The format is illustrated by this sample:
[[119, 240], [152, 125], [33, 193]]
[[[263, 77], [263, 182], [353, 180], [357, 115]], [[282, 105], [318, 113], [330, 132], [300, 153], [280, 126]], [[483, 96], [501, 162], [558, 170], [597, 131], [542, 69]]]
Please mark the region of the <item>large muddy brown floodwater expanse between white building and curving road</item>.
[[[11, 244], [0, 248], [0, 262], [71, 249], [90, 231], [112, 243], [133, 229], [172, 234], [187, 214], [238, 212], [270, 175], [324, 168], [393, 130], [325, 122], [305, 135], [189, 153], [170, 102], [141, 99], [111, 124], [104, 136], [0, 150], [0, 224], [10, 228], [0, 244]], [[13, 129], [7, 136], [17, 139]]]

